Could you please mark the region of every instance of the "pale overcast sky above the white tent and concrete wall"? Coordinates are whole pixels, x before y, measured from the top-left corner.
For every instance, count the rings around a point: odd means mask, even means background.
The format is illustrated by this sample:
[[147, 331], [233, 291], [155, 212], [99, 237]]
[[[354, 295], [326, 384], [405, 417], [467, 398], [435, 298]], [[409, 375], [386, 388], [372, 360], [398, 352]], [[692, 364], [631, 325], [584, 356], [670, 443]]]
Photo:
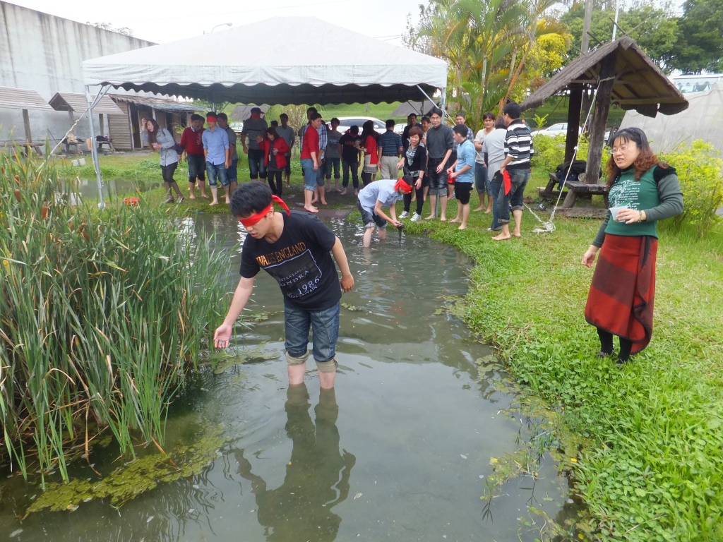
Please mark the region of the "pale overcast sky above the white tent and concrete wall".
[[[74, 21], [110, 22], [114, 27], [129, 27], [136, 38], [156, 43], [201, 35], [226, 22], [237, 27], [270, 17], [313, 15], [372, 38], [401, 45], [407, 14], [411, 12], [416, 22], [422, 0], [9, 1]], [[228, 27], [218, 27], [215, 32], [223, 30]], [[284, 38], [274, 36], [273, 28], [269, 29], [269, 34], [274, 39]], [[339, 46], [351, 44], [340, 43]]]

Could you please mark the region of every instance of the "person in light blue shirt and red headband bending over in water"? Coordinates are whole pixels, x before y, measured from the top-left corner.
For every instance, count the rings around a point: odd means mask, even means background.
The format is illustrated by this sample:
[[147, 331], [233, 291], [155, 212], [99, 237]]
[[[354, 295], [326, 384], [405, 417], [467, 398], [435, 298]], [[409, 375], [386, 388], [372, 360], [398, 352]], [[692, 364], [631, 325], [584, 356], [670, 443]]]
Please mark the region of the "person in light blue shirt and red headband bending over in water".
[[[395, 205], [404, 194], [411, 194], [411, 185], [411, 176], [405, 175], [398, 181], [393, 178], [380, 178], [379, 181], [367, 184], [361, 189], [356, 207], [361, 212], [361, 220], [366, 228], [363, 246], [372, 243], [375, 225], [379, 228], [380, 239], [387, 237], [387, 223], [401, 228], [402, 223], [397, 220]], [[389, 208], [389, 215], [384, 212], [385, 207]]]

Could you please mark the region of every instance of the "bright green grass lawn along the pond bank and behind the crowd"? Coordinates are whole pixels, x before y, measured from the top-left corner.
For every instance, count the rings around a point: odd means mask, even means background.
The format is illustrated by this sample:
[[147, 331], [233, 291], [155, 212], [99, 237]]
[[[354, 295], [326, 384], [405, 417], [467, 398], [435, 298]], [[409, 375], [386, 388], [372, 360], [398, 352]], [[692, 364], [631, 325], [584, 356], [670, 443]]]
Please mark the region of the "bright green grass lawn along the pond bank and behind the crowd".
[[[136, 163], [101, 157], [101, 167], [160, 181], [158, 158], [148, 157]], [[284, 194], [290, 203], [302, 191], [295, 167]], [[82, 169], [92, 176], [92, 167]], [[246, 178], [241, 165], [239, 177]], [[186, 191], [185, 172], [176, 178]], [[546, 183], [547, 174], [534, 171], [528, 194], [536, 197], [535, 187]], [[163, 189], [148, 194], [158, 202], [165, 197]], [[356, 198], [330, 194], [330, 204], [353, 208]], [[602, 197], [594, 205], [603, 205]], [[198, 200], [181, 207], [210, 211]], [[453, 200], [448, 218], [455, 213]], [[497, 346], [524, 393], [559, 413], [557, 434], [573, 434], [553, 443], [590, 514], [568, 526], [570, 538], [723, 541], [722, 226], [701, 240], [688, 229], [659, 225], [653, 339], [619, 368], [595, 357], [597, 335], [583, 317], [592, 271], [581, 257], [599, 220], [557, 217], [554, 233], [535, 234], [539, 223], [525, 212], [522, 238], [508, 241], [491, 240], [490, 220], [474, 212], [466, 231], [439, 220], [407, 221], [406, 231], [453, 244], [474, 259], [458, 314]]]

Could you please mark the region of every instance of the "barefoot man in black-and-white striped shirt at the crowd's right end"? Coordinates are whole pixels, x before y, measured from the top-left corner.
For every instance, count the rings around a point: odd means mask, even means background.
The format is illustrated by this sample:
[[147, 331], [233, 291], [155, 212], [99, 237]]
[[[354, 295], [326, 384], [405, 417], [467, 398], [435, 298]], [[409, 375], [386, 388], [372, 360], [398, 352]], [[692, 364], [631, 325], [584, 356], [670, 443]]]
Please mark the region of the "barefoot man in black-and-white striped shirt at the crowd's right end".
[[[502, 183], [500, 196], [497, 197], [498, 223], [502, 226], [502, 233], [493, 237], [495, 241], [504, 241], [512, 236], [520, 237], [522, 223], [523, 197], [525, 186], [530, 178], [530, 158], [534, 153], [530, 129], [520, 120], [521, 109], [519, 104], [510, 102], [503, 110], [507, 136], [505, 137], [505, 160], [500, 165], [500, 173], [509, 175], [510, 183]], [[505, 191], [508, 184], [509, 191]], [[510, 233], [510, 209], [515, 219], [515, 229]]]

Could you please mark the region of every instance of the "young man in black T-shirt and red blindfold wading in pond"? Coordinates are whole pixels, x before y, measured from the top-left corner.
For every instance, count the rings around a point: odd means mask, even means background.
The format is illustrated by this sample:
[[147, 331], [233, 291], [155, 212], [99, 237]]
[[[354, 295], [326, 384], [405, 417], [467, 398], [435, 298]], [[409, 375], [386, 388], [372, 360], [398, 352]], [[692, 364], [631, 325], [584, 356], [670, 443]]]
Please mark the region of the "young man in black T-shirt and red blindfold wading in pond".
[[[284, 212], [276, 212], [273, 202]], [[228, 348], [236, 320], [253, 292], [254, 278], [263, 268], [283, 294], [289, 387], [304, 383], [311, 330], [319, 382], [322, 389], [333, 388], [341, 291], [354, 286], [341, 241], [315, 216], [289, 211], [265, 184], [239, 186], [231, 197], [231, 213], [248, 235], [241, 249], [239, 285], [226, 319], [215, 331], [215, 348]], [[341, 287], [334, 262], [341, 271]]]

